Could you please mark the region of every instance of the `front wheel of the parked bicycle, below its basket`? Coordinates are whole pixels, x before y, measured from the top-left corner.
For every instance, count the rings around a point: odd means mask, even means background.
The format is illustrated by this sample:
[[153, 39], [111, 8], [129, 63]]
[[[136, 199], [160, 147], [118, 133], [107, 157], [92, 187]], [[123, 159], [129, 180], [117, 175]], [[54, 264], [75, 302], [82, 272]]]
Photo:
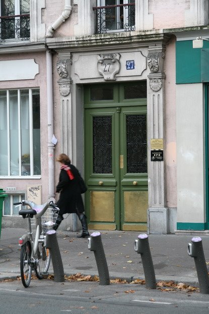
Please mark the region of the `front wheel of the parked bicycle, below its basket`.
[[44, 278], [44, 276], [47, 276], [47, 272], [50, 265], [51, 255], [48, 248], [43, 246], [43, 243], [38, 244], [37, 249], [37, 257], [38, 257], [38, 263], [35, 269], [36, 276], [38, 279]]

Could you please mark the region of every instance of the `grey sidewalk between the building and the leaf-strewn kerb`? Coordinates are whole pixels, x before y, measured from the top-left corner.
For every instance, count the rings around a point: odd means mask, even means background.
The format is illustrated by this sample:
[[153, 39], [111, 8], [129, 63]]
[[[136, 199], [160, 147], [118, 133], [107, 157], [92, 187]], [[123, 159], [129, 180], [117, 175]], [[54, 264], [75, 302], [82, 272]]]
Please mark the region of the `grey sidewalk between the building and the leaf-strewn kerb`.
[[[93, 231], [90, 230], [90, 234]], [[0, 239], [0, 281], [20, 276], [21, 228], [3, 228]], [[80, 233], [80, 232], [79, 232]], [[88, 249], [88, 239], [77, 238], [78, 232], [57, 231], [64, 274], [97, 275], [94, 252]], [[143, 232], [100, 231], [111, 279], [127, 281], [145, 279], [141, 255], [134, 251], [134, 241]], [[198, 236], [198, 234], [196, 235]], [[149, 235], [156, 281], [183, 282], [198, 287], [194, 259], [187, 253], [191, 235]], [[205, 261], [209, 269], [209, 236], [200, 236]], [[53, 273], [52, 263], [49, 273]]]

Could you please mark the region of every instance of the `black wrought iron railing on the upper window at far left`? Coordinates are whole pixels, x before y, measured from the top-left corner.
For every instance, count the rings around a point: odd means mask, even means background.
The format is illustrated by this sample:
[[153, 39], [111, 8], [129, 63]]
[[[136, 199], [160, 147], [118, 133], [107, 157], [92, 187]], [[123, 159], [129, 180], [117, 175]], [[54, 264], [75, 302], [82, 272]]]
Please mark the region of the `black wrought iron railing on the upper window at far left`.
[[30, 39], [30, 14], [0, 16], [0, 42]]

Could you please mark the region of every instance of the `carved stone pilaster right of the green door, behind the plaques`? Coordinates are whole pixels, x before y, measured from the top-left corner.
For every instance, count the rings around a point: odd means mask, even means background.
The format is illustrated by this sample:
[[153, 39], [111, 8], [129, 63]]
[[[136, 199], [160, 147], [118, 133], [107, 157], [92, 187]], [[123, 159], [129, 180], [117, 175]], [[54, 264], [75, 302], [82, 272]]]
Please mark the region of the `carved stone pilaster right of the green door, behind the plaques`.
[[165, 45], [162, 42], [148, 48], [148, 233], [169, 232], [169, 210], [166, 207], [166, 177], [164, 161], [151, 161], [151, 139], [165, 141]]

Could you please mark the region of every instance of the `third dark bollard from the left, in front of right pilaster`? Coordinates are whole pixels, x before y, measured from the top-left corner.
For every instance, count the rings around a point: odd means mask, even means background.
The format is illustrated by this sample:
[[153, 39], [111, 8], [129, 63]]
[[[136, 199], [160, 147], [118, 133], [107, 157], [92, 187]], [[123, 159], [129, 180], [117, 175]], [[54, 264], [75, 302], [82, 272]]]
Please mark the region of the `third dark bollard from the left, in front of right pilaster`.
[[147, 234], [138, 235], [137, 240], [135, 240], [134, 250], [135, 252], [140, 253], [142, 257], [146, 288], [156, 289], [155, 270], [153, 267], [153, 260]]

